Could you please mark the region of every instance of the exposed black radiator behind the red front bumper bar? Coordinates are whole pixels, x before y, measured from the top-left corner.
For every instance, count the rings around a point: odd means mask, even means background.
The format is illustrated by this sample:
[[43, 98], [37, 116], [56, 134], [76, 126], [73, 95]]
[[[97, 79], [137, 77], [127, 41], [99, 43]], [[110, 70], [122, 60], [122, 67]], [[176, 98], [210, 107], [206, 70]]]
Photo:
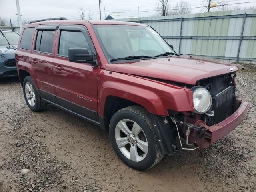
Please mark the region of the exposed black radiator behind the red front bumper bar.
[[228, 118], [233, 113], [235, 87], [229, 86], [222, 92], [218, 93], [212, 99], [212, 110], [214, 116], [211, 118], [211, 124], [217, 124]]

